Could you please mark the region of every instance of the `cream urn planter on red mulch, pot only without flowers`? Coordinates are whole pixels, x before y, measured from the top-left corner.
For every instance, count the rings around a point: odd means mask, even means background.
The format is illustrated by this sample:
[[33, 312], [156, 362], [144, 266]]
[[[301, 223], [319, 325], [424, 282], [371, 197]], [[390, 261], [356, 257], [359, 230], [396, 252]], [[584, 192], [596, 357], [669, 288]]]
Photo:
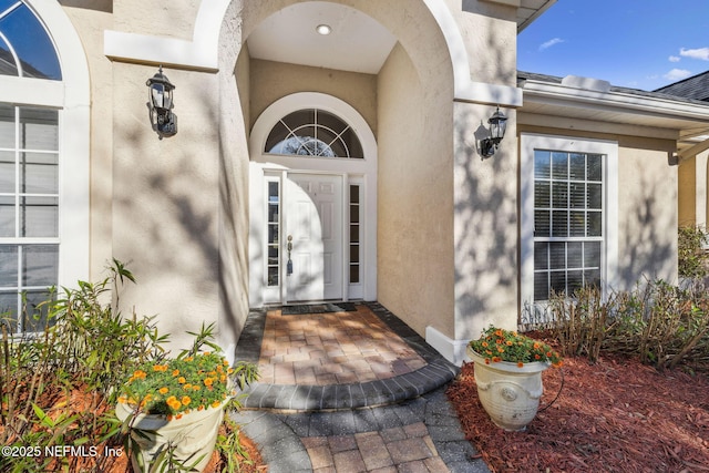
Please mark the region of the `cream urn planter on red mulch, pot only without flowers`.
[[542, 372], [546, 362], [517, 363], [485, 358], [467, 347], [467, 356], [475, 363], [475, 384], [483, 409], [495, 425], [507, 431], [523, 431], [532, 422], [544, 392]]

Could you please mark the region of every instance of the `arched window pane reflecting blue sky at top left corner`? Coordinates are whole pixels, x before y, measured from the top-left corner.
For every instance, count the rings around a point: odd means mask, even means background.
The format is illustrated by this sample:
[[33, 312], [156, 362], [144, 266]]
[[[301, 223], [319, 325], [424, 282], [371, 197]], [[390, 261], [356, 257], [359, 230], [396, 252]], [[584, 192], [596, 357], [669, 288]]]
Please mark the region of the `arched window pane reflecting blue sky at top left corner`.
[[34, 12], [17, 0], [0, 0], [0, 74], [61, 81], [54, 45]]

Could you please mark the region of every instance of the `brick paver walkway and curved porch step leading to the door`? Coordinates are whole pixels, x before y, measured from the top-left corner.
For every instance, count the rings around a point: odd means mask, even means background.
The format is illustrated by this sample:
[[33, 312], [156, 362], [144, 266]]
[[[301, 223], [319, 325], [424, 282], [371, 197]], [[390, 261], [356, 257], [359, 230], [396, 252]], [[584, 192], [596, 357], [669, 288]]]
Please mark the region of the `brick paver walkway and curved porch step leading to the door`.
[[456, 369], [382, 306], [356, 308], [249, 315], [235, 354], [261, 378], [233, 419], [269, 473], [489, 473], [445, 398]]

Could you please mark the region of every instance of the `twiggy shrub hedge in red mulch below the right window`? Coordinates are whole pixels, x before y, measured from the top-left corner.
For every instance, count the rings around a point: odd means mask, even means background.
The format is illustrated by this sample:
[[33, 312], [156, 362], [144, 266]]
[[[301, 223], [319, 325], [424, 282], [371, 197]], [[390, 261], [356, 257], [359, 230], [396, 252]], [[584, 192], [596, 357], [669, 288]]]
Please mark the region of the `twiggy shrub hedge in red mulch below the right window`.
[[602, 297], [598, 289], [555, 295], [553, 330], [564, 354], [595, 361], [602, 351], [638, 357], [658, 369], [709, 362], [709, 292], [662, 280]]

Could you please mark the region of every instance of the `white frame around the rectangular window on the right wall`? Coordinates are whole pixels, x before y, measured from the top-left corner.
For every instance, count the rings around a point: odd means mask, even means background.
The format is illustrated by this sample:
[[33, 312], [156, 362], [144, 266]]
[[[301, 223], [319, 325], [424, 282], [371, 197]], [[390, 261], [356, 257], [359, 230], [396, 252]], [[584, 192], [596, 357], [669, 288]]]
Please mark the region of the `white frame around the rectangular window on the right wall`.
[[603, 243], [600, 280], [604, 297], [617, 287], [618, 271], [618, 143], [585, 137], [522, 133], [520, 140], [521, 313], [534, 302], [534, 152], [559, 151], [604, 155]]

